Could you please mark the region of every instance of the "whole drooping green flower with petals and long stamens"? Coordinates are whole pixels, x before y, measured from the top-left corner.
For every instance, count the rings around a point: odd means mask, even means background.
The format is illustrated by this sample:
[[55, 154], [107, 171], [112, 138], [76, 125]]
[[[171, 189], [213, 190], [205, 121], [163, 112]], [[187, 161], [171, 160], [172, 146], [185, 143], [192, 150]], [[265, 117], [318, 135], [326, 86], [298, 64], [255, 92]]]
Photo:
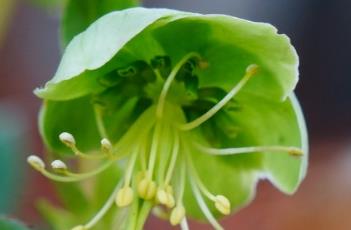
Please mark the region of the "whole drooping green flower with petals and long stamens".
[[185, 215], [222, 229], [217, 219], [250, 202], [258, 180], [291, 194], [306, 174], [297, 68], [288, 37], [269, 24], [167, 9], [107, 14], [35, 91], [49, 148], [99, 166], [77, 174], [56, 160], [52, 173], [28, 161], [62, 182], [124, 171], [74, 229], [92, 228], [113, 203], [128, 213], [126, 229], [141, 229], [151, 209], [183, 229]]

